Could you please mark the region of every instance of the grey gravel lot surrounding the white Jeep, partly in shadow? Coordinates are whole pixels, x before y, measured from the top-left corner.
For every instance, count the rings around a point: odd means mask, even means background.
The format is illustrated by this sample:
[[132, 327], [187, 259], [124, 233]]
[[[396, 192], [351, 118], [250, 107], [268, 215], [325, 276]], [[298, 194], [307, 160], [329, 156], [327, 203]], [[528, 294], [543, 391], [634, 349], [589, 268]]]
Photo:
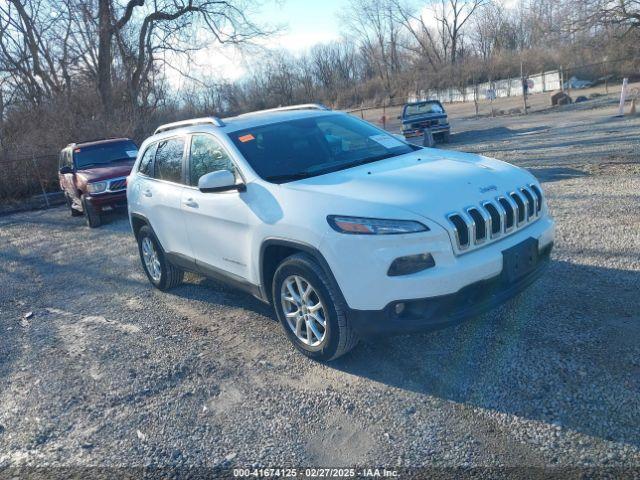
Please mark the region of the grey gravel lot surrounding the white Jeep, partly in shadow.
[[637, 474], [640, 118], [607, 108], [456, 122], [450, 148], [544, 182], [558, 222], [548, 273], [474, 321], [326, 365], [242, 292], [192, 275], [151, 288], [122, 215], [97, 230], [63, 208], [1, 217], [0, 477], [20, 465]]

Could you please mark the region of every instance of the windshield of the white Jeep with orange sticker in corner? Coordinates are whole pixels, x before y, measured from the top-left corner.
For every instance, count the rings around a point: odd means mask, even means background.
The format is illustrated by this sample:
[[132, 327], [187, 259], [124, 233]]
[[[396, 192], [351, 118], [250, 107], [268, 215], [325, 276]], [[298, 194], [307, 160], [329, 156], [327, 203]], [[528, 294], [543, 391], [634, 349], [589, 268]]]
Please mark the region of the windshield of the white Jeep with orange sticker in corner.
[[231, 139], [265, 180], [282, 183], [417, 150], [355, 117], [329, 114], [241, 130]]

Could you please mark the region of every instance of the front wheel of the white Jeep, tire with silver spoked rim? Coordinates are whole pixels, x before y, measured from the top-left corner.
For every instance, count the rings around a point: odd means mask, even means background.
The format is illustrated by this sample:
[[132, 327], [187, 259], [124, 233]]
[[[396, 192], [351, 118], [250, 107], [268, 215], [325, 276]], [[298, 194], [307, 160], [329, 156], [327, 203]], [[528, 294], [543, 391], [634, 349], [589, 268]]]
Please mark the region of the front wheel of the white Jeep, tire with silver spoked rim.
[[[301, 284], [297, 283], [296, 278], [301, 279]], [[283, 300], [283, 295], [295, 300], [287, 283], [294, 289], [294, 293], [298, 293], [296, 297], [298, 303]], [[302, 285], [301, 288], [300, 285]], [[313, 292], [307, 297], [307, 303], [311, 307], [305, 305], [305, 313], [302, 313], [303, 308], [300, 305], [304, 301], [299, 292], [306, 291], [306, 286], [309, 285]], [[307, 357], [320, 361], [333, 360], [357, 345], [358, 337], [349, 324], [348, 308], [342, 294], [311, 256], [298, 253], [284, 259], [273, 276], [271, 292], [273, 306], [282, 328], [291, 343]], [[318, 301], [321, 304], [320, 310], [314, 310], [311, 313], [312, 308], [317, 307]], [[298, 315], [294, 310], [299, 312]], [[288, 319], [287, 313], [296, 316]], [[304, 314], [307, 317], [302, 319]], [[318, 318], [324, 320], [324, 327], [317, 321]], [[310, 323], [315, 328], [316, 334], [313, 333], [313, 328], [309, 327]], [[298, 332], [306, 338], [299, 338], [295, 331], [298, 325], [300, 325]], [[318, 338], [317, 333], [321, 334], [321, 339]]]

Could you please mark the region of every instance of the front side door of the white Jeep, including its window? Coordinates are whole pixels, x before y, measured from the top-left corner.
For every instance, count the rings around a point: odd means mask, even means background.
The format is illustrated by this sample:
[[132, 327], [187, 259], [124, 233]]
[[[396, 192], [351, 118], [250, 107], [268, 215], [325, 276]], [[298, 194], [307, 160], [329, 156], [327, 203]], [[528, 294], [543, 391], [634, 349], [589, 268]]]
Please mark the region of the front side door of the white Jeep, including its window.
[[189, 185], [183, 196], [183, 212], [189, 240], [197, 264], [204, 273], [231, 273], [249, 278], [250, 210], [243, 193], [236, 190], [203, 193], [198, 179], [207, 173], [229, 170], [236, 179], [239, 173], [227, 151], [209, 134], [191, 137]]

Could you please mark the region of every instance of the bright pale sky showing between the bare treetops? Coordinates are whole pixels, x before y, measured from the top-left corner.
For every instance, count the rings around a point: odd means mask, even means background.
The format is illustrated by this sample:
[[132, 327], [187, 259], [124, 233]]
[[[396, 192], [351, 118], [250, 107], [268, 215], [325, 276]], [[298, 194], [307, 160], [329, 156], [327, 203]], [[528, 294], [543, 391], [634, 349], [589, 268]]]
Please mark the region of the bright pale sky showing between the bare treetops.
[[[277, 35], [261, 40], [260, 45], [299, 53], [317, 43], [338, 39], [338, 13], [348, 4], [348, 0], [263, 0], [250, 18], [259, 25], [280, 29]], [[250, 54], [213, 44], [197, 52], [188, 66], [180, 65], [180, 71], [189, 71], [198, 78], [211, 75], [215, 80], [233, 81], [247, 74], [247, 61], [250, 64]], [[166, 73], [174, 86], [183, 82], [178, 71], [169, 67]]]

